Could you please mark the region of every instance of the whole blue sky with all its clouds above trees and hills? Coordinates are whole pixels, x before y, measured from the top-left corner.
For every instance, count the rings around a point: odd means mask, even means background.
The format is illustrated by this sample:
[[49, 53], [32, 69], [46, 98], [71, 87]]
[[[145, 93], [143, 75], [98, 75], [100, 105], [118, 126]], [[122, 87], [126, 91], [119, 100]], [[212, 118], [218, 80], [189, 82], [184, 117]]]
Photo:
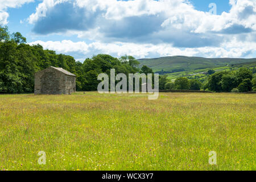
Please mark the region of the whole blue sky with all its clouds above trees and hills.
[[[83, 61], [97, 53], [256, 57], [254, 0], [0, 0], [0, 23]], [[215, 3], [217, 14], [210, 14]], [[45, 12], [46, 16], [42, 16]]]

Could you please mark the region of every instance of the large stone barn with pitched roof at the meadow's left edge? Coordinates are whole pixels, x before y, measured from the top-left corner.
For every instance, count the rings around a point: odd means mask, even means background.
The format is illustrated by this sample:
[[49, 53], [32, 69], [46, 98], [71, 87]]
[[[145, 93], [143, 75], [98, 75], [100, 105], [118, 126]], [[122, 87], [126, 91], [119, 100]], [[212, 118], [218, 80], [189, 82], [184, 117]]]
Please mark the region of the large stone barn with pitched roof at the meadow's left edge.
[[35, 94], [72, 94], [76, 92], [76, 75], [63, 68], [49, 67], [35, 73]]

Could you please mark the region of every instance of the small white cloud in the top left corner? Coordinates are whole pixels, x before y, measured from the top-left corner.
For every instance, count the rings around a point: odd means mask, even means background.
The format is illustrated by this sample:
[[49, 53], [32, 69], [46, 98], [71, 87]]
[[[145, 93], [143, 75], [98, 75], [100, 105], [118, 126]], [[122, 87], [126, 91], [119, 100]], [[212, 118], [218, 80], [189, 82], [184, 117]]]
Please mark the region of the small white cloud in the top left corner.
[[9, 14], [6, 12], [8, 8], [20, 7], [24, 3], [34, 2], [34, 0], [0, 0], [0, 24], [7, 24]]

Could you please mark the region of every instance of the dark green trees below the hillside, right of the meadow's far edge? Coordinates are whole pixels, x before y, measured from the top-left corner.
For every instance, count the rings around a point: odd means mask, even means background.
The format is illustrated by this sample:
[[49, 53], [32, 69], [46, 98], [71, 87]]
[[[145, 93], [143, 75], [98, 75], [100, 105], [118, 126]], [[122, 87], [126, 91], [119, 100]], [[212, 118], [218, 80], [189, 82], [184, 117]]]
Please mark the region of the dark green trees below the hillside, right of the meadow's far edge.
[[167, 76], [160, 78], [160, 89], [165, 90], [207, 90], [212, 92], [256, 92], [256, 77], [254, 69], [240, 68], [234, 71], [208, 71], [207, 80], [189, 80], [186, 77], [168, 80]]

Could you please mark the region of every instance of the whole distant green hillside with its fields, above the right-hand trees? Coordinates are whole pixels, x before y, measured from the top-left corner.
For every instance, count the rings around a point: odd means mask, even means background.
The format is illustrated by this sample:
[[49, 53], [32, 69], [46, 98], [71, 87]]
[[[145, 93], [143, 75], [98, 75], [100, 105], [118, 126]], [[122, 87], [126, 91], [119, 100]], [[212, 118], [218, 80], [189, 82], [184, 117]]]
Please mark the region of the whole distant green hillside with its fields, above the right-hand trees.
[[[204, 82], [208, 76], [204, 73], [207, 73], [209, 69], [213, 69], [215, 72], [229, 72], [241, 67], [248, 69], [256, 67], [256, 59], [209, 59], [204, 57], [171, 56], [156, 59], [139, 59], [138, 61], [141, 63], [139, 67], [147, 65], [156, 73], [159, 71], [171, 72], [164, 75], [167, 75], [167, 78], [172, 81], [179, 77], [187, 77]], [[183, 71], [180, 69], [183, 69]]]

